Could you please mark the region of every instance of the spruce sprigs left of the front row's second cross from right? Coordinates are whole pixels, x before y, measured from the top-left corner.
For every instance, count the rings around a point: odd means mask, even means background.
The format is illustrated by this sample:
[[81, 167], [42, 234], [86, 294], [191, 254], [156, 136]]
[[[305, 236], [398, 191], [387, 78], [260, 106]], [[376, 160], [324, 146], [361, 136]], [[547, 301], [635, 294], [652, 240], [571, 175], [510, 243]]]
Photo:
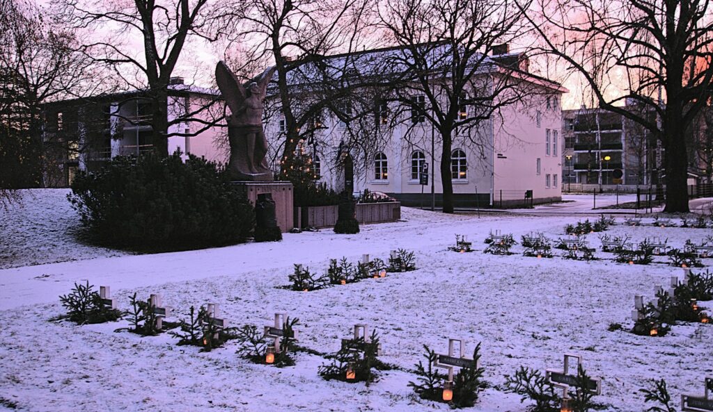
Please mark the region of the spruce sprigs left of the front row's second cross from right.
[[535, 402], [528, 406], [528, 412], [558, 412], [562, 398], [555, 392], [555, 386], [548, 383], [540, 371], [520, 366], [515, 375], [506, 375], [506, 391], [522, 396], [520, 402], [527, 399]]

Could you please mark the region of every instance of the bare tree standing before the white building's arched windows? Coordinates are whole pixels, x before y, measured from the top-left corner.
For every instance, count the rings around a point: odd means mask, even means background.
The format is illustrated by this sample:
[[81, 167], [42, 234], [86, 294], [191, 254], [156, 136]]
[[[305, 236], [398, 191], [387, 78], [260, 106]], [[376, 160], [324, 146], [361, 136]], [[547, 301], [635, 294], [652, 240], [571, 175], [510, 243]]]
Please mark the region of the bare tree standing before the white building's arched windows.
[[453, 213], [456, 131], [481, 152], [492, 151], [478, 129], [534, 91], [526, 90], [524, 62], [501, 51], [523, 35], [523, 14], [510, 0], [396, 0], [381, 10], [381, 29], [398, 45], [389, 56], [390, 98], [411, 112], [408, 122], [436, 130], [445, 213]]

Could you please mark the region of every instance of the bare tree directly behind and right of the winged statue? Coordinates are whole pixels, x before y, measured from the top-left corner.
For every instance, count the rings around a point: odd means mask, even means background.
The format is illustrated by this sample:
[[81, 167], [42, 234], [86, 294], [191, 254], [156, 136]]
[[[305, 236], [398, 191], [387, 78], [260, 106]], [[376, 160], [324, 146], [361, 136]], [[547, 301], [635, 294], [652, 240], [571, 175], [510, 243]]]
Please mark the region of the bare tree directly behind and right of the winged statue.
[[235, 72], [250, 78], [258, 66], [275, 65], [268, 90], [275, 104], [266, 112], [282, 118], [282, 139], [272, 148], [282, 178], [289, 177], [298, 144], [323, 137], [327, 115], [354, 124], [366, 113], [362, 107], [372, 109], [354, 93], [366, 84], [350, 58], [369, 43], [370, 6], [368, 0], [249, 0], [218, 7], [215, 26], [227, 40]]

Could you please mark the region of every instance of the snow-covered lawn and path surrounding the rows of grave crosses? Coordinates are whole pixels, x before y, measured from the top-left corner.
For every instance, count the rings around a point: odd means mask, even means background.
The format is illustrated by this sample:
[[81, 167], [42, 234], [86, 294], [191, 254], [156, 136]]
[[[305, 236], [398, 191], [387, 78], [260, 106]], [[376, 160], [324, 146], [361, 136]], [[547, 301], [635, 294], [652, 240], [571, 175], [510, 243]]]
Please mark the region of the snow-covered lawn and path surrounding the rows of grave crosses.
[[[59, 210], [64, 206], [58, 193], [51, 191], [46, 195], [51, 199], [38, 203], [56, 202]], [[519, 245], [511, 256], [482, 253], [491, 229], [513, 233], [518, 241], [530, 231], [556, 239], [564, 236], [566, 223], [588, 216], [483, 213], [478, 218], [404, 208], [404, 221], [362, 226], [352, 236], [329, 230], [287, 233], [279, 243], [112, 256], [115, 252], [76, 245], [56, 231], [58, 221], [68, 228], [75, 218], [58, 219], [60, 213], [43, 215], [40, 209], [26, 205], [23, 211], [33, 214], [27, 221], [39, 227], [46, 224], [43, 219], [52, 221], [45, 226], [53, 227], [46, 238], [58, 246], [32, 258], [21, 257], [21, 244], [11, 246], [19, 250], [14, 265], [24, 266], [0, 270], [5, 332], [0, 401], [15, 402], [21, 411], [446, 411], [446, 405], [414, 396], [407, 384], [416, 379], [412, 370], [422, 359], [423, 345], [443, 353], [448, 337], [464, 339], [468, 354], [482, 342], [481, 362], [491, 387], [471, 408], [478, 412], [525, 411], [528, 403], [496, 387], [503, 375], [521, 365], [561, 368], [564, 353], [583, 355], [588, 373], [604, 379], [596, 399], [607, 404], [606, 411], [645, 410], [638, 390], [650, 386], [648, 379], [665, 378], [677, 403], [681, 393], [702, 393], [704, 377], [713, 373], [712, 325], [679, 324], [662, 338], [607, 331], [611, 323], [631, 326], [634, 295], [650, 299], [655, 285], [667, 286], [671, 275], [682, 276], [665, 259], [649, 266], [622, 265], [600, 251], [596, 255], [605, 259], [594, 262], [524, 258]], [[712, 232], [653, 226], [607, 231], [633, 241], [668, 238], [677, 247]], [[477, 250], [446, 250], [456, 233], [467, 235]], [[595, 234], [588, 240], [599, 249]], [[369, 253], [385, 259], [394, 248], [414, 250], [418, 270], [313, 292], [279, 288], [287, 284], [294, 263], [326, 270], [329, 258], [356, 261]], [[8, 249], [3, 243], [1, 250]], [[31, 265], [70, 257], [76, 260]], [[240, 359], [231, 342], [200, 353], [175, 346], [168, 335], [114, 332], [124, 321], [82, 327], [49, 322], [63, 313], [57, 296], [84, 280], [111, 285], [124, 309], [134, 292], [139, 297], [160, 292], [179, 317], [191, 305], [209, 301], [220, 304], [233, 325], [267, 325], [275, 312], [287, 312], [300, 320], [300, 344], [320, 352], [336, 352], [353, 324], [366, 323], [380, 335], [380, 359], [400, 370], [380, 372], [379, 381], [368, 387], [345, 384], [322, 380], [317, 367], [327, 360], [316, 355], [297, 354], [297, 365], [277, 369]], [[713, 310], [712, 302], [702, 306]]]

